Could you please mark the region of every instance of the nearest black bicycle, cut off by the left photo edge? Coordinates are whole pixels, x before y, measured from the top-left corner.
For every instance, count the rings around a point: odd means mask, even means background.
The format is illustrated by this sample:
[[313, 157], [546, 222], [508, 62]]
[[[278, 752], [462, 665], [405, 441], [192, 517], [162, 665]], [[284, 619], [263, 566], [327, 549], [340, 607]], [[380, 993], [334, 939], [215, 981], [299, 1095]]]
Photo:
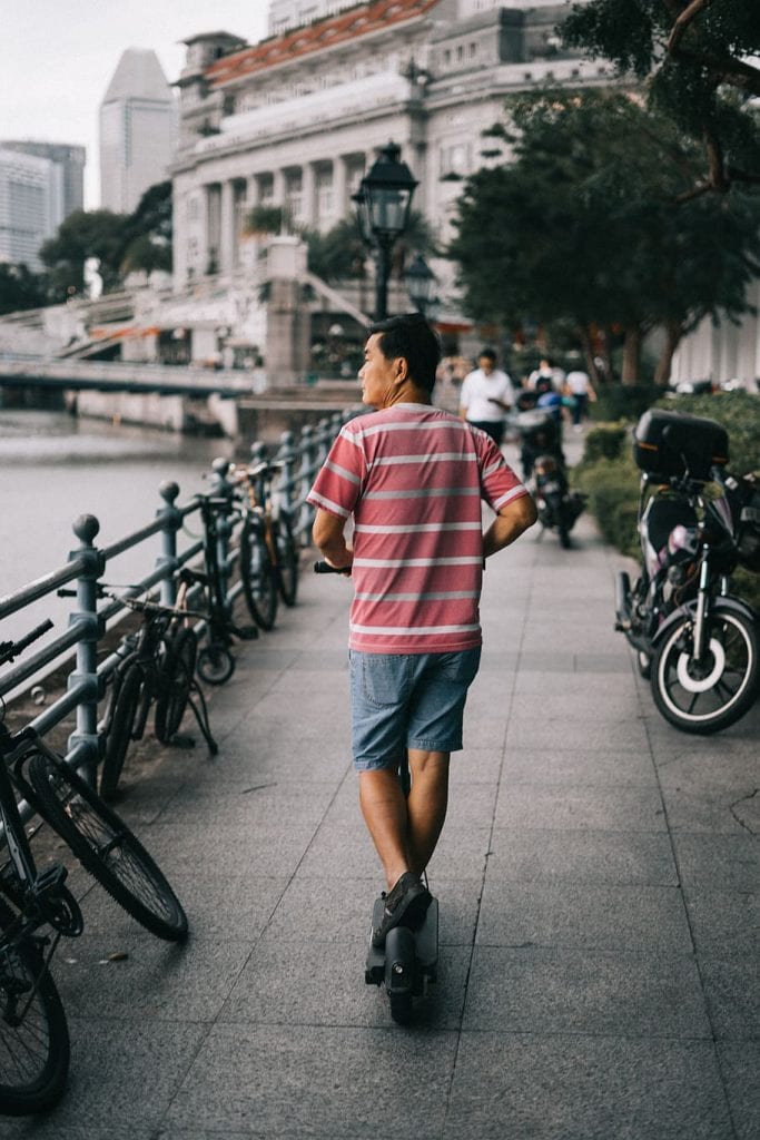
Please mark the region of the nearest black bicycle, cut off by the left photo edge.
[[[0, 665], [50, 627], [46, 621], [19, 641], [2, 643]], [[123, 821], [32, 726], [11, 732], [0, 718], [0, 815], [8, 856], [0, 868], [0, 1112], [10, 1115], [49, 1108], [65, 1088], [68, 1031], [49, 967], [58, 939], [83, 928], [63, 864], [43, 872], [35, 866], [19, 799], [146, 929], [170, 942], [188, 929], [174, 891]]]

